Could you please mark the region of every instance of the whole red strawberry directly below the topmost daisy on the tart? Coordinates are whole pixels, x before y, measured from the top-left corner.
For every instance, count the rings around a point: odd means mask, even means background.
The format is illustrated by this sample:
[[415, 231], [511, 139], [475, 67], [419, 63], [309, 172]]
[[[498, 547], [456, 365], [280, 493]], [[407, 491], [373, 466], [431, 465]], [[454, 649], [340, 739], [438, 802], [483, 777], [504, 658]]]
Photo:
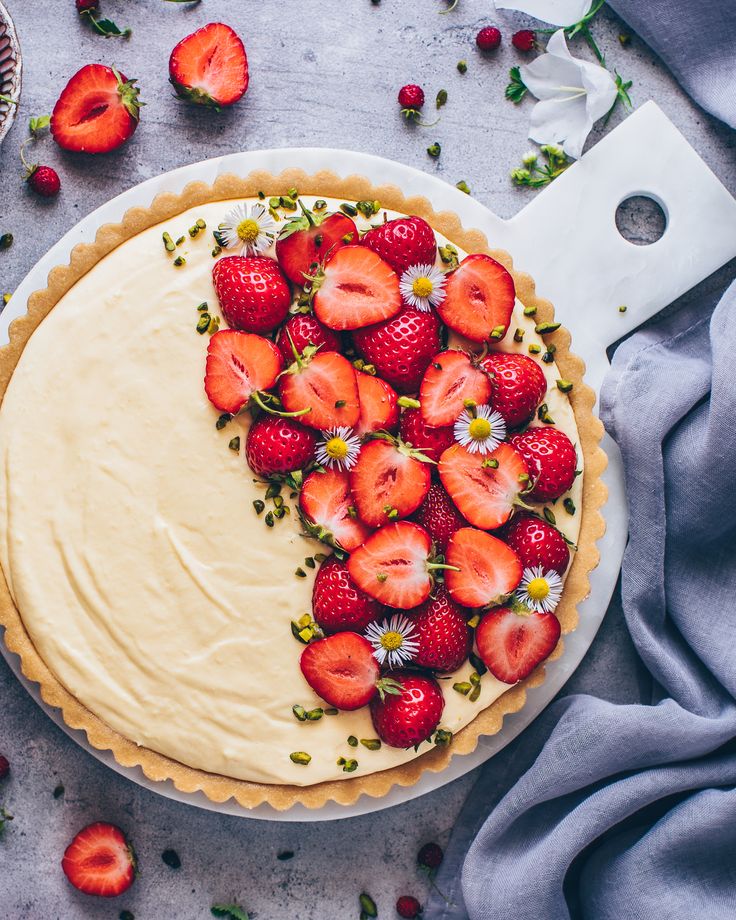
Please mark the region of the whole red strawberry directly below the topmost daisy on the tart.
[[212, 280], [233, 329], [270, 332], [286, 319], [291, 290], [274, 259], [225, 256], [215, 262]]

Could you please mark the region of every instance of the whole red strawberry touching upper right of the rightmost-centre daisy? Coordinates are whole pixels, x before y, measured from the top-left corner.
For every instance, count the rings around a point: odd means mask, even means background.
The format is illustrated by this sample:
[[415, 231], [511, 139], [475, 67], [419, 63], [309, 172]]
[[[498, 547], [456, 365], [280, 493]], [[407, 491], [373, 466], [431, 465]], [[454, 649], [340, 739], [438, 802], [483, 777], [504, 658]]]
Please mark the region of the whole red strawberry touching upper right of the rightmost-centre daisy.
[[491, 375], [491, 401], [509, 428], [528, 422], [547, 392], [542, 368], [527, 355], [494, 351], [481, 361]]

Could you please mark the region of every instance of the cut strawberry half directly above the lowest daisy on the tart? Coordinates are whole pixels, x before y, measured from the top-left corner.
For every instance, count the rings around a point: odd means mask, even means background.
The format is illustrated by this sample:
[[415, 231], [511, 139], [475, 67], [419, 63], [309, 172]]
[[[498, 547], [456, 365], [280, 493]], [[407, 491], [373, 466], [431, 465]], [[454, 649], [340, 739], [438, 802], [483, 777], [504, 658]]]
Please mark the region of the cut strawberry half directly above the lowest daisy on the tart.
[[361, 591], [377, 601], [411, 610], [426, 601], [432, 590], [431, 550], [426, 530], [399, 521], [377, 530], [351, 553], [348, 571]]

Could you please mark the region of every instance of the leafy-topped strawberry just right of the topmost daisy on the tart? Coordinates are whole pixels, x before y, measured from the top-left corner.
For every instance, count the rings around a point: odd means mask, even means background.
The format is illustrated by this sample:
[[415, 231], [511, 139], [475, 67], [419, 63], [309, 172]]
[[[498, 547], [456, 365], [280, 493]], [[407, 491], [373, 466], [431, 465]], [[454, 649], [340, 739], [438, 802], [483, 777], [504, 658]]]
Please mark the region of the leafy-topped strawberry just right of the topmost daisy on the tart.
[[276, 258], [289, 281], [304, 287], [305, 276], [314, 275], [328, 254], [358, 242], [358, 228], [347, 214], [310, 211], [301, 200], [299, 206], [301, 215], [279, 233]]

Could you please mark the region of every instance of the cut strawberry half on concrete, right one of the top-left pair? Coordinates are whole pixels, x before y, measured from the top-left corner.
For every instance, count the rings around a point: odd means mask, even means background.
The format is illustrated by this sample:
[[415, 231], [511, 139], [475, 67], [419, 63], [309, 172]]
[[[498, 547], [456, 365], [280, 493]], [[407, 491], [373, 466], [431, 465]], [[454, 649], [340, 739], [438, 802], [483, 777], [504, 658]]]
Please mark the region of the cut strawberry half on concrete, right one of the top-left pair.
[[177, 96], [213, 108], [232, 105], [248, 89], [248, 58], [230, 26], [210, 22], [183, 38], [169, 58]]

